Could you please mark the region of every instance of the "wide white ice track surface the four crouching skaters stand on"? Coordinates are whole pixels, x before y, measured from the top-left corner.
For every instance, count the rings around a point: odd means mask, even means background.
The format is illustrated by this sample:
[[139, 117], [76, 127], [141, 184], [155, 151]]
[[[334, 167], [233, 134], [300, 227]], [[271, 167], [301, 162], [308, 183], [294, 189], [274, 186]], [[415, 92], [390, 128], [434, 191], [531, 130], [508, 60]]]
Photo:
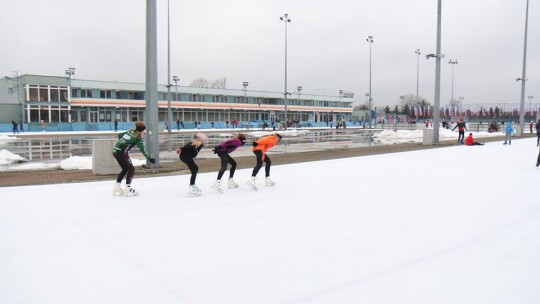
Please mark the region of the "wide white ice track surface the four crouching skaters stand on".
[[[538, 148], [0, 188], [0, 303], [540, 303]], [[259, 173], [258, 183], [263, 182]], [[227, 176], [228, 173], [226, 173]]]

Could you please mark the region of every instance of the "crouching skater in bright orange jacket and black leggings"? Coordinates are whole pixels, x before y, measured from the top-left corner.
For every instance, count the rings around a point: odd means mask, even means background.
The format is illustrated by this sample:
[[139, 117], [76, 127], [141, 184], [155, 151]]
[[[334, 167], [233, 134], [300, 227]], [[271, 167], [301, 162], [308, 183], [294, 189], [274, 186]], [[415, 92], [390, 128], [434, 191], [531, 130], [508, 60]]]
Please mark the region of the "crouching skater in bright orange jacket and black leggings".
[[266, 151], [277, 145], [280, 141], [281, 135], [279, 133], [274, 133], [263, 136], [253, 142], [253, 154], [255, 154], [257, 164], [255, 165], [255, 168], [253, 168], [251, 178], [247, 182], [248, 186], [250, 186], [253, 190], [258, 189], [257, 184], [255, 183], [255, 178], [257, 177], [257, 173], [259, 173], [263, 162], [266, 164], [264, 167], [266, 173], [265, 185], [273, 186], [276, 184], [270, 179], [270, 166], [272, 165], [272, 160], [270, 160], [270, 157], [266, 155]]

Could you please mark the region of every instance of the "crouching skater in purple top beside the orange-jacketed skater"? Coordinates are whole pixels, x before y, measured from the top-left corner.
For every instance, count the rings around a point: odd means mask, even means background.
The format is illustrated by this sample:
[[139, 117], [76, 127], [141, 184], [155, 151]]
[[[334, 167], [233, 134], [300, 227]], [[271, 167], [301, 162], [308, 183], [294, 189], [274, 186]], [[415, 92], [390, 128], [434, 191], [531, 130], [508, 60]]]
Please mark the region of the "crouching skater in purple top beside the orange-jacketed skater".
[[242, 133], [238, 133], [235, 137], [221, 142], [214, 148], [214, 153], [217, 154], [221, 160], [221, 169], [218, 172], [217, 180], [212, 185], [212, 188], [218, 192], [223, 192], [221, 187], [221, 178], [225, 171], [227, 171], [227, 164], [231, 164], [231, 170], [229, 171], [229, 181], [227, 183], [229, 188], [238, 188], [238, 184], [234, 181], [234, 172], [236, 170], [236, 161], [229, 155], [235, 151], [238, 147], [245, 145], [246, 136]]

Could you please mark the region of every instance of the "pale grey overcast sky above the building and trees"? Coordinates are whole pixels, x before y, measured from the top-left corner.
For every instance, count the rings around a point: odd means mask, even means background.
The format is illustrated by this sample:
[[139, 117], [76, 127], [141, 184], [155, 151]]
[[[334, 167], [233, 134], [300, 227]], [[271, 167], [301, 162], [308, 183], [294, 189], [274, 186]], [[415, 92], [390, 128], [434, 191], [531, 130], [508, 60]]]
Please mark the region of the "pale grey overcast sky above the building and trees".
[[[23, 74], [144, 82], [145, 0], [0, 0], [0, 77]], [[452, 95], [471, 103], [518, 103], [526, 0], [452, 0], [442, 6], [441, 105]], [[159, 82], [167, 82], [167, 1], [157, 0]], [[171, 75], [227, 78], [227, 88], [283, 91], [288, 13], [288, 90], [338, 95], [369, 91], [375, 105], [416, 94], [434, 99], [437, 0], [170, 1]], [[527, 96], [540, 102], [540, 4], [529, 7]]]

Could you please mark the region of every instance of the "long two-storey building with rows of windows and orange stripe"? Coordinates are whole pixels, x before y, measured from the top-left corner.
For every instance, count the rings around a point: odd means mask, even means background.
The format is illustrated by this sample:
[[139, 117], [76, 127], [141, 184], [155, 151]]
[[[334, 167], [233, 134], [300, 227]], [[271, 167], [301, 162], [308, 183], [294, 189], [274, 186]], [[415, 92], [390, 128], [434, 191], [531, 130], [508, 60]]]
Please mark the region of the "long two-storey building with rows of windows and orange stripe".
[[[167, 120], [167, 86], [158, 86], [158, 120]], [[289, 121], [350, 120], [352, 97], [292, 93]], [[0, 79], [0, 123], [102, 124], [145, 120], [145, 84], [21, 75]], [[171, 86], [173, 120], [284, 121], [283, 92]], [[64, 128], [66, 129], [66, 128]], [[69, 128], [67, 128], [69, 129]]]

